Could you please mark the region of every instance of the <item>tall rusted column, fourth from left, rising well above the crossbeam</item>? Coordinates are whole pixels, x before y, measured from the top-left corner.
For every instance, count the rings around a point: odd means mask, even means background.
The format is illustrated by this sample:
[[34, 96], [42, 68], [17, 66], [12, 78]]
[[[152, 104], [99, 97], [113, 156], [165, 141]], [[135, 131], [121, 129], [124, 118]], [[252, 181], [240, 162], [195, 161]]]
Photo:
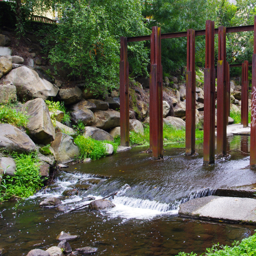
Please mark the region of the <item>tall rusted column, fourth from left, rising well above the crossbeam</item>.
[[204, 164], [215, 157], [214, 22], [206, 20], [204, 69]]

